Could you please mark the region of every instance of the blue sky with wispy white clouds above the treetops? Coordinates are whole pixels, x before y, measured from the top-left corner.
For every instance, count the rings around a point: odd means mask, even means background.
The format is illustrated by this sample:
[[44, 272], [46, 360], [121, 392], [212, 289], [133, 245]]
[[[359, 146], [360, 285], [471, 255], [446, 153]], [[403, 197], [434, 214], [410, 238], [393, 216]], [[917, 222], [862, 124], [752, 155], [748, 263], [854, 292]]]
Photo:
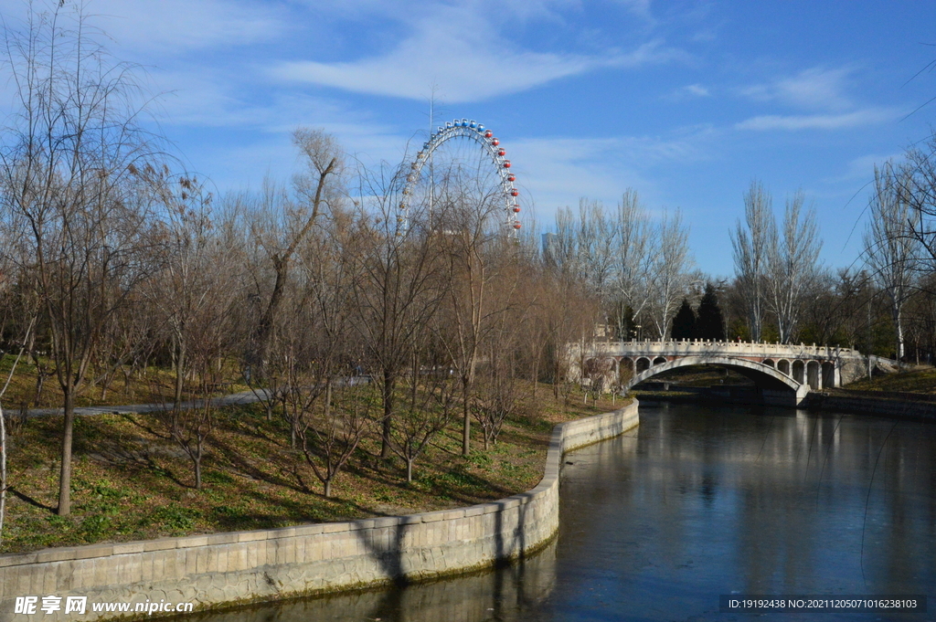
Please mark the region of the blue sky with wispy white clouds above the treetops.
[[[397, 163], [425, 137], [434, 86], [437, 121], [469, 117], [501, 138], [538, 226], [633, 187], [654, 211], [682, 210], [715, 275], [733, 272], [728, 230], [755, 178], [775, 210], [801, 189], [823, 260], [852, 264], [874, 164], [936, 123], [936, 102], [916, 110], [936, 96], [930, 2], [87, 4], [114, 55], [146, 67], [162, 131], [219, 191], [288, 179], [297, 125]], [[0, 0], [7, 19], [23, 6]]]

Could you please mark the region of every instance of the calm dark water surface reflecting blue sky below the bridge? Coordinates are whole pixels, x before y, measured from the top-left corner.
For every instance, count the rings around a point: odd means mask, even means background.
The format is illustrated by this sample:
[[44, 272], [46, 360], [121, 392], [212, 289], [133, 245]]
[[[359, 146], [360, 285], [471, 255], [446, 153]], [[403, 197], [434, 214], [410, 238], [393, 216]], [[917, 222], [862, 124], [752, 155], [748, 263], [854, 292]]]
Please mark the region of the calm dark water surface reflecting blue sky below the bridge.
[[[559, 538], [500, 571], [205, 616], [260, 620], [936, 620], [936, 426], [642, 406], [568, 454]], [[927, 594], [927, 614], [719, 612], [721, 594]]]

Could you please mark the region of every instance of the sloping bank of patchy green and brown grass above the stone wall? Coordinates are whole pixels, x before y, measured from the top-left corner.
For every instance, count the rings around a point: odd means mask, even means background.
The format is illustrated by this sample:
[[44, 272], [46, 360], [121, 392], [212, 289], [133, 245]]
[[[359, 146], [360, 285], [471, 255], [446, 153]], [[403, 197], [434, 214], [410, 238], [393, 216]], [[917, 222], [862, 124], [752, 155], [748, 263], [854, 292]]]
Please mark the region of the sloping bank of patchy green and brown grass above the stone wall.
[[453, 425], [417, 461], [411, 485], [402, 461], [379, 459], [376, 441], [365, 441], [336, 479], [332, 499], [319, 494], [312, 470], [289, 449], [284, 424], [266, 421], [256, 404], [219, 415], [200, 491], [192, 487], [187, 456], [153, 416], [80, 417], [75, 508], [68, 517], [52, 512], [61, 418], [13, 421], [12, 489], [0, 552], [410, 514], [500, 499], [540, 480], [556, 423], [624, 403], [584, 407], [581, 399], [566, 405], [541, 386], [534, 410], [509, 420], [488, 452], [480, 451], [475, 436], [477, 449], [467, 458], [461, 457], [461, 429]]

